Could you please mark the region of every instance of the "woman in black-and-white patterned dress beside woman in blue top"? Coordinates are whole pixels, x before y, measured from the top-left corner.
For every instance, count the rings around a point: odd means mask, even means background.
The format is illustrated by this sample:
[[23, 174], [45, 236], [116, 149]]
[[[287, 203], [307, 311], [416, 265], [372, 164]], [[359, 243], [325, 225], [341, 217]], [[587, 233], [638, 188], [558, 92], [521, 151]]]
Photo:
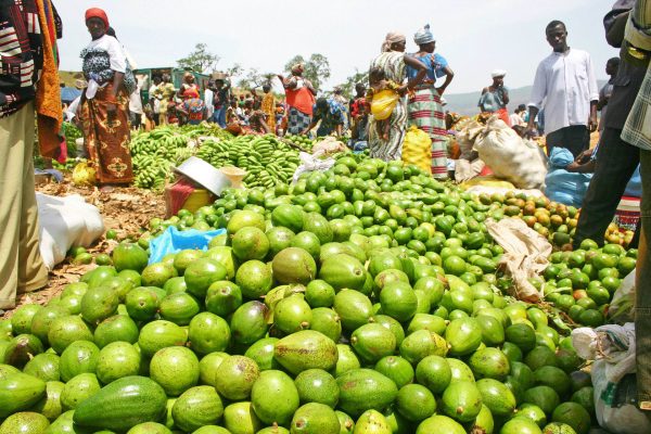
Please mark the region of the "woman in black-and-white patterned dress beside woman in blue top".
[[[390, 33], [382, 43], [382, 53], [372, 62], [370, 69], [380, 68], [384, 79], [400, 85], [398, 93], [403, 95], [388, 117], [388, 135], [378, 133], [375, 119], [369, 119], [369, 149], [371, 157], [384, 161], [400, 159], [403, 142], [407, 131], [407, 100], [404, 95], [420, 85], [427, 73], [425, 65], [417, 59], [405, 54], [407, 38], [399, 33]], [[413, 67], [418, 73], [407, 84], [406, 66]]]

